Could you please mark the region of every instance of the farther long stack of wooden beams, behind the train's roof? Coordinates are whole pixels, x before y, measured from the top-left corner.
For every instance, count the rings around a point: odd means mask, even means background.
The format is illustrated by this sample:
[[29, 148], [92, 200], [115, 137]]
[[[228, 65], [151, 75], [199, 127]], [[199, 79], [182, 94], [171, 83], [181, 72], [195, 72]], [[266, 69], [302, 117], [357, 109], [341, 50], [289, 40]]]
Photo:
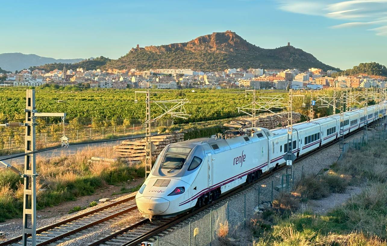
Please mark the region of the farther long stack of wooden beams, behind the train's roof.
[[[241, 118], [238, 120], [232, 120], [229, 123], [224, 124], [228, 127], [239, 128], [241, 126], [251, 127], [253, 118]], [[301, 114], [293, 112], [293, 124], [301, 120]], [[282, 113], [279, 115], [275, 114], [266, 114], [257, 116], [255, 120], [256, 127], [264, 127], [267, 129], [274, 129], [276, 127], [287, 126], [288, 125], [288, 113]]]

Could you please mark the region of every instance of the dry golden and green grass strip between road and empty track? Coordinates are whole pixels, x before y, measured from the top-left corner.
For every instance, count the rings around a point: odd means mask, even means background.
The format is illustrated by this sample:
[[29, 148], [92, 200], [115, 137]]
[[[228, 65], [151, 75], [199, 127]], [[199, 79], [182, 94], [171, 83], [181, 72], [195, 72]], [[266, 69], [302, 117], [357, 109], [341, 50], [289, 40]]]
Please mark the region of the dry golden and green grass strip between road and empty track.
[[[45, 155], [36, 158], [37, 208], [55, 206], [63, 201], [75, 200], [78, 196], [93, 194], [107, 184], [119, 184], [136, 177], [143, 177], [140, 165], [128, 165], [121, 160], [114, 163], [89, 163], [91, 157], [115, 158], [111, 146], [84, 148], [74, 155], [56, 153], [47, 159]], [[19, 170], [22, 170], [19, 167]], [[3, 177], [3, 178], [1, 178]], [[0, 221], [19, 216], [23, 199], [23, 184], [19, 177], [7, 170], [0, 170]], [[41, 189], [43, 188], [43, 189]], [[3, 214], [5, 214], [3, 216]]]

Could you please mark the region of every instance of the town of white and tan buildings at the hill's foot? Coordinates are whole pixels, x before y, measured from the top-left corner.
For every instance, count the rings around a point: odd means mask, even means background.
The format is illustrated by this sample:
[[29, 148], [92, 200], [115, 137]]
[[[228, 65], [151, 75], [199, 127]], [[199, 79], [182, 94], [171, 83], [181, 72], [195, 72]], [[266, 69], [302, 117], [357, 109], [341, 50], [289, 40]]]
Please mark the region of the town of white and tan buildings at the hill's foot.
[[[17, 74], [5, 74], [1, 86], [85, 86], [90, 88], [249, 88], [249, 89], [320, 89], [325, 87], [370, 88], [386, 86], [386, 81], [370, 76], [338, 76], [336, 71], [310, 68], [248, 69], [230, 68], [224, 71], [193, 71], [191, 69], [54, 69], [53, 71], [24, 69]], [[3, 76], [3, 74], [0, 74]]]

